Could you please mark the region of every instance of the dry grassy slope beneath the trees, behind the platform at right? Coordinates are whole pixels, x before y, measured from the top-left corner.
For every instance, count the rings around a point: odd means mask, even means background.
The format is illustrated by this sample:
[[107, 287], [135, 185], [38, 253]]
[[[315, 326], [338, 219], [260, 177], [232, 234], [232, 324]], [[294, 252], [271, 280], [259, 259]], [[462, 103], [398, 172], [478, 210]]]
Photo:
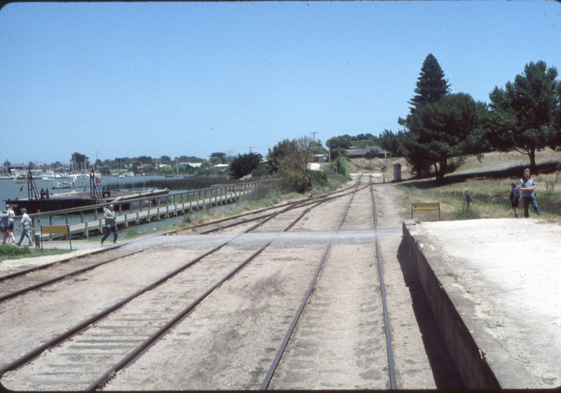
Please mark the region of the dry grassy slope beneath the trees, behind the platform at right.
[[[442, 220], [492, 219], [514, 217], [511, 202], [511, 182], [518, 184], [527, 163], [520, 153], [490, 153], [479, 163], [468, 158], [466, 165], [448, 174], [443, 184], [434, 179], [410, 179], [398, 187], [404, 191], [403, 207], [411, 209], [415, 202], [440, 202]], [[536, 200], [546, 221], [561, 223], [561, 154], [547, 151], [541, 155], [532, 178], [536, 181]], [[464, 189], [474, 199], [466, 208]], [[523, 214], [522, 201], [520, 213]], [[530, 216], [534, 216], [530, 207]], [[436, 221], [436, 212], [414, 212], [414, 219]]]

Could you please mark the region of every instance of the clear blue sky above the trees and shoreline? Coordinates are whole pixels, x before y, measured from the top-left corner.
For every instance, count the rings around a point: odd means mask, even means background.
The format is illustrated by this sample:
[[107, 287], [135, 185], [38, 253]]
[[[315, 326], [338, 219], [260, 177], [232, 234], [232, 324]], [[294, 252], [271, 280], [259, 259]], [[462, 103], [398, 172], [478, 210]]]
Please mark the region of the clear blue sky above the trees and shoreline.
[[488, 102], [529, 62], [561, 71], [560, 48], [555, 1], [8, 4], [0, 162], [396, 132], [428, 53]]

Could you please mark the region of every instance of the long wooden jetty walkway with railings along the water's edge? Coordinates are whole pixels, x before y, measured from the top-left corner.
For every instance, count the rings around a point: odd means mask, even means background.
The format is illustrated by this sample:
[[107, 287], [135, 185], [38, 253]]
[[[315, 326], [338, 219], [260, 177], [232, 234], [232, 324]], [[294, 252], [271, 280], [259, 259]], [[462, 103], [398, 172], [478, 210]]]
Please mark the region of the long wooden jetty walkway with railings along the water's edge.
[[[69, 225], [71, 235], [82, 234], [89, 237], [90, 232], [103, 233], [104, 219], [103, 212], [109, 205], [114, 205], [114, 211], [118, 213], [116, 224], [128, 228], [130, 223], [140, 225], [142, 222], [152, 220], [168, 219], [170, 216], [178, 216], [191, 213], [213, 206], [229, 204], [238, 200], [241, 195], [254, 191], [256, 188], [269, 185], [279, 181], [277, 179], [267, 179], [260, 181], [250, 181], [240, 184], [215, 184], [209, 188], [199, 190], [182, 191], [165, 195], [145, 194], [141, 198], [114, 200], [112, 202], [99, 203], [83, 207], [72, 207], [69, 209], [53, 210], [50, 212], [37, 212], [29, 214], [32, 219], [33, 233], [35, 239], [36, 223], [43, 225], [53, 225], [53, 221], [64, 220]], [[79, 216], [79, 223], [77, 223]], [[16, 221], [20, 216], [16, 217]], [[45, 223], [48, 221], [48, 224]], [[74, 223], [71, 223], [73, 221]], [[43, 240], [52, 240], [53, 235], [43, 235]]]

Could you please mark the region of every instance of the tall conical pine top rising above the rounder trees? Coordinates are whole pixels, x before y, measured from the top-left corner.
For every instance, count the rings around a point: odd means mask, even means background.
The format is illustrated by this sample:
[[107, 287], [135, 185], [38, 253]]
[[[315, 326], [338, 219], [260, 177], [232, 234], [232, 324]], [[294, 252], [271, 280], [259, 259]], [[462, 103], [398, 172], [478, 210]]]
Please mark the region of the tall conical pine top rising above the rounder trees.
[[438, 60], [429, 53], [421, 67], [421, 73], [417, 78], [417, 88], [414, 92], [416, 95], [411, 99], [409, 104], [411, 113], [425, 104], [437, 102], [440, 98], [450, 93], [450, 85], [448, 80], [444, 78], [444, 71], [440, 68]]

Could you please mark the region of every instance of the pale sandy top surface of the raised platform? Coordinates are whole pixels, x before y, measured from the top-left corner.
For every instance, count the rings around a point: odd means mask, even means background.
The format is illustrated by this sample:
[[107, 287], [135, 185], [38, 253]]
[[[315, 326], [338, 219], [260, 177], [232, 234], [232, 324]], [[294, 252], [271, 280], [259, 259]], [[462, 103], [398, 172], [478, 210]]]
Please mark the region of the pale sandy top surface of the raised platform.
[[428, 236], [425, 247], [442, 255], [447, 275], [475, 304], [474, 329], [498, 341], [539, 387], [560, 386], [560, 226], [489, 219], [422, 223], [414, 231]]

